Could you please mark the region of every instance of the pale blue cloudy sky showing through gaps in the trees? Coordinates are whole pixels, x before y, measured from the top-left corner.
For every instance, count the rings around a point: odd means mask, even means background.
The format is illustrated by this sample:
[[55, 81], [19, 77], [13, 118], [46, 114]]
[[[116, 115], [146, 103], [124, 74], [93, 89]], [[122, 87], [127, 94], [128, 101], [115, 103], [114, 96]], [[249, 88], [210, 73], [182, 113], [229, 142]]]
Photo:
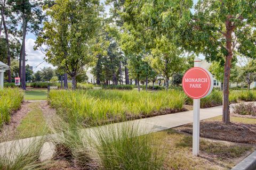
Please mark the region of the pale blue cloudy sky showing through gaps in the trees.
[[[198, 0], [193, 0], [194, 4]], [[100, 0], [101, 3], [104, 3], [105, 0]], [[110, 6], [105, 5], [105, 12], [109, 12]], [[33, 71], [36, 72], [38, 70], [43, 69], [44, 67], [53, 67], [51, 64], [44, 61], [45, 55], [40, 50], [34, 50], [36, 37], [32, 33], [28, 33], [26, 36], [26, 59], [28, 60], [26, 64], [33, 66]], [[203, 56], [199, 56], [203, 58]]]

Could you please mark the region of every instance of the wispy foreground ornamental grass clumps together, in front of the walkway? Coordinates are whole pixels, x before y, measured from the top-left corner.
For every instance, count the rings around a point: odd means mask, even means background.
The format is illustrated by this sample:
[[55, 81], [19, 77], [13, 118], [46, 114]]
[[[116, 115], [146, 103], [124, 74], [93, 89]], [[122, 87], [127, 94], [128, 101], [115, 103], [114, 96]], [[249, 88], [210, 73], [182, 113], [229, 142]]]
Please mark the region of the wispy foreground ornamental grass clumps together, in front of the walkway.
[[153, 136], [142, 135], [143, 128], [137, 124], [80, 130], [73, 123], [60, 126], [63, 133], [56, 140], [57, 159], [66, 159], [79, 169], [162, 169], [163, 153]]

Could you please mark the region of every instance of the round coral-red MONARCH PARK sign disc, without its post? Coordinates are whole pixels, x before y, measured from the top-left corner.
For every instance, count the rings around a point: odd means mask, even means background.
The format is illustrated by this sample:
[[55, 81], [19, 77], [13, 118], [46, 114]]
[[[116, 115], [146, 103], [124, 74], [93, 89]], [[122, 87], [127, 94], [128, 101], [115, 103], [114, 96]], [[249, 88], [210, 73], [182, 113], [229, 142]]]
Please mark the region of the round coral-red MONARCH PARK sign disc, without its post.
[[209, 95], [212, 86], [211, 73], [201, 67], [189, 69], [182, 79], [183, 91], [187, 96], [193, 99], [199, 99]]

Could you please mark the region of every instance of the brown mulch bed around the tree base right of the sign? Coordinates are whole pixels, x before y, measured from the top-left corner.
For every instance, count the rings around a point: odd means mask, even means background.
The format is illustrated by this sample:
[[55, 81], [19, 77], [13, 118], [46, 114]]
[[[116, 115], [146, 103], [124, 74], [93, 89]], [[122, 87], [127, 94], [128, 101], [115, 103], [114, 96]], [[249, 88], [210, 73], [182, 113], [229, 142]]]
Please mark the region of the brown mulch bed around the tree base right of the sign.
[[[179, 131], [192, 134], [193, 125], [186, 124], [176, 128]], [[256, 144], [256, 124], [230, 123], [219, 121], [200, 122], [200, 136], [238, 143]]]

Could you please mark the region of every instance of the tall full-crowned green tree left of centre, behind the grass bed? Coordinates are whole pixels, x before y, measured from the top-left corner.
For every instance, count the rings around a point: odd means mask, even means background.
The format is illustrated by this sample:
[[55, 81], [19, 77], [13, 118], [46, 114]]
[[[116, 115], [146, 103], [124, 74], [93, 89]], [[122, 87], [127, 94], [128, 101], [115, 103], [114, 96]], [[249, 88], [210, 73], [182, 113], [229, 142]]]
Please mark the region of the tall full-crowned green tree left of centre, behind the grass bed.
[[101, 10], [97, 0], [57, 0], [46, 8], [51, 20], [44, 23], [36, 48], [47, 46], [46, 61], [70, 75], [73, 90], [77, 75], [94, 61], [90, 47], [100, 26]]

